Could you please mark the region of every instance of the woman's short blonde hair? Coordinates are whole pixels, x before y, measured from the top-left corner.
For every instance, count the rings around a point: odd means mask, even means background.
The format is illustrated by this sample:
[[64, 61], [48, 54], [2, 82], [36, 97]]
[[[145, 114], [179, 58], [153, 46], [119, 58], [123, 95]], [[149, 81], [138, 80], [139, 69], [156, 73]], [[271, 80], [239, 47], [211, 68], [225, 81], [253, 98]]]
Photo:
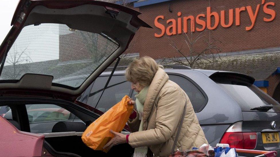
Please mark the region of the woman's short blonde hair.
[[158, 65], [151, 57], [135, 58], [125, 70], [125, 77], [127, 81], [139, 82], [145, 87], [151, 84], [158, 68], [163, 68], [163, 66]]

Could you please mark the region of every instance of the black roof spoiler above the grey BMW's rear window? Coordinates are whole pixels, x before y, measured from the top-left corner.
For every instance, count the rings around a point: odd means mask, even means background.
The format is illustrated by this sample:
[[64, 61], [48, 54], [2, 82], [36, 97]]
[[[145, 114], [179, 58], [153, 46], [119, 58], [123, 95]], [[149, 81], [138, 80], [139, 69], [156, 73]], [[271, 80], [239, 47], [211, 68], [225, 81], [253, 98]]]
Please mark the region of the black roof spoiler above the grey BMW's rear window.
[[215, 72], [209, 76], [209, 78], [215, 82], [222, 84], [235, 84], [242, 86], [252, 86], [255, 82], [255, 78], [243, 73], [236, 72]]

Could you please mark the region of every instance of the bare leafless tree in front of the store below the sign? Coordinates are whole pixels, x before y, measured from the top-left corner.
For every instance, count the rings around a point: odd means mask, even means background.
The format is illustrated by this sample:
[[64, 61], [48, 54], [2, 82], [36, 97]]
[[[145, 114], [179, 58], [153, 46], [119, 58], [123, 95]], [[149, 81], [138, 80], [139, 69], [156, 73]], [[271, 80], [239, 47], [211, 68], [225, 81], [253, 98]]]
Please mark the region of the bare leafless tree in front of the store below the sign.
[[[182, 34], [184, 36], [184, 44], [187, 45], [188, 51], [182, 49], [183, 44], [178, 47], [174, 41], [172, 41], [169, 37], [167, 38], [170, 41], [170, 45], [175, 49], [177, 53], [180, 54], [181, 57], [161, 57], [159, 59], [160, 64], [179, 64], [186, 65], [189, 67], [200, 67], [200, 63], [204, 61], [207, 62], [217, 62], [217, 58], [220, 58], [219, 53], [221, 52], [221, 48], [219, 48], [216, 44], [221, 43], [219, 40], [215, 39], [206, 39], [205, 34], [206, 31], [212, 31], [209, 29], [205, 29], [196, 37], [193, 36], [193, 32], [190, 32], [190, 37], [185, 32]], [[194, 46], [199, 44], [199, 41], [203, 41], [205, 44], [200, 44], [201, 47], [199, 50], [195, 49]]]

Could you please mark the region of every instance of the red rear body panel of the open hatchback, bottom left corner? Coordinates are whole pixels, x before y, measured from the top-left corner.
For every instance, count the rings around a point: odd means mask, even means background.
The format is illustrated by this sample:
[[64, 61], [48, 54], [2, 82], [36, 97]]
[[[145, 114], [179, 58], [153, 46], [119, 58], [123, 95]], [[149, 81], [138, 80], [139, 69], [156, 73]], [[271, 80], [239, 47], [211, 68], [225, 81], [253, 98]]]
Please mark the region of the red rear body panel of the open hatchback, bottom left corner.
[[2, 116], [0, 126], [0, 156], [41, 156], [44, 135], [22, 132]]

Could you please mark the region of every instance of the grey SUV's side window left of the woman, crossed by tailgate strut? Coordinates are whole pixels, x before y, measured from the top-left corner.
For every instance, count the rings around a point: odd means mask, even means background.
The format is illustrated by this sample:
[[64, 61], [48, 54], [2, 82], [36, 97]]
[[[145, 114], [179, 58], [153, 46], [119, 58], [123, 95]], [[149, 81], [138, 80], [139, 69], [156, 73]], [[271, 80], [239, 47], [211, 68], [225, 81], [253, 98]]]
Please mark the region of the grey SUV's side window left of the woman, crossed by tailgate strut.
[[[103, 88], [108, 80], [108, 76], [98, 77], [92, 87], [92, 90], [89, 94], [88, 102], [92, 107], [95, 107]], [[131, 84], [126, 81], [124, 75], [112, 76], [108, 87], [104, 91], [102, 98], [100, 99], [97, 109], [106, 112], [112, 106], [120, 102], [120, 100], [125, 96], [129, 95], [131, 91]]]

